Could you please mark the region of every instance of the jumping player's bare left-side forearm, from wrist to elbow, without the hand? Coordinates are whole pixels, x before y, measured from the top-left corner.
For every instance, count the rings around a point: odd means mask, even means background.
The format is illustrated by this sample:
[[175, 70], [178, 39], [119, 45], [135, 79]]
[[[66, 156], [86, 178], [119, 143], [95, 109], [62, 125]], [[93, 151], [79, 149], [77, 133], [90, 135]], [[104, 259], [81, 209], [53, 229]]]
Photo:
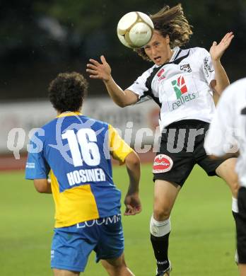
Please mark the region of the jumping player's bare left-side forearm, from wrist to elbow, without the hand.
[[112, 79], [112, 76], [108, 81], [103, 81], [106, 88], [107, 92], [110, 94], [110, 97], [114, 102], [119, 105], [121, 108], [124, 108], [127, 105], [130, 105], [130, 99], [127, 93], [125, 93], [122, 88], [120, 88]]

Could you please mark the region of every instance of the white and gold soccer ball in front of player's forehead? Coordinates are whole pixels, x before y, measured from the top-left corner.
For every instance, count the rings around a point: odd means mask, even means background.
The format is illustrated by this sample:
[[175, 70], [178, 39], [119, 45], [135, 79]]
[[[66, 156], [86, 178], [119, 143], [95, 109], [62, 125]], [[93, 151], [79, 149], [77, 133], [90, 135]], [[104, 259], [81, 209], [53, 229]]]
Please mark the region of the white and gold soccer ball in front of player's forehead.
[[141, 48], [148, 44], [153, 35], [151, 18], [140, 11], [131, 11], [120, 18], [117, 25], [119, 41], [129, 48]]

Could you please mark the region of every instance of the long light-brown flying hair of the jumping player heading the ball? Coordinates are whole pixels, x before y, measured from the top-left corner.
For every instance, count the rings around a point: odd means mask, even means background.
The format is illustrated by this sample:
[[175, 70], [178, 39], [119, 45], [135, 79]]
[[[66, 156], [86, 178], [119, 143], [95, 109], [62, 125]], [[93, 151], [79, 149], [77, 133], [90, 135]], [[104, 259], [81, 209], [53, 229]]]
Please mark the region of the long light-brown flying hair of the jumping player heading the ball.
[[[182, 46], [189, 42], [189, 37], [192, 35], [192, 26], [184, 16], [181, 4], [177, 4], [170, 8], [164, 6], [158, 13], [150, 16], [155, 30], [158, 30], [165, 38], [169, 35], [170, 47]], [[144, 47], [135, 49], [143, 59], [150, 61], [144, 51]]]

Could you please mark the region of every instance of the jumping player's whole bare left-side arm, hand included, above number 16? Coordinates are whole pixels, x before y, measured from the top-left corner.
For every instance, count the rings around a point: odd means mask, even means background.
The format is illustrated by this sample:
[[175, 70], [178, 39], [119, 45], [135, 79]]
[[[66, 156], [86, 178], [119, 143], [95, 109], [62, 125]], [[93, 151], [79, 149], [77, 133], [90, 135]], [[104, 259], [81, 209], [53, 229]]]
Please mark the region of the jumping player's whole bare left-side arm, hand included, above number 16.
[[130, 91], [123, 91], [114, 81], [111, 75], [110, 64], [107, 63], [104, 56], [100, 57], [101, 63], [95, 59], [90, 59], [90, 63], [87, 64], [86, 71], [90, 74], [91, 79], [101, 79], [106, 88], [107, 92], [110, 94], [110, 97], [114, 102], [119, 105], [121, 108], [124, 108], [127, 105], [132, 105], [138, 100], [138, 96]]

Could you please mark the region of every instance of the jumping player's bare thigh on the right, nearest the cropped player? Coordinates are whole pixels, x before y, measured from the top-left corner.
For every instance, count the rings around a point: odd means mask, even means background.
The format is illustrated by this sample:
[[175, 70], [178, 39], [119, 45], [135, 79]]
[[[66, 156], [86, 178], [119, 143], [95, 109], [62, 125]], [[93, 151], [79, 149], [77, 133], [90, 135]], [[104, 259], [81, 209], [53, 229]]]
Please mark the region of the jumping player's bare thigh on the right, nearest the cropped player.
[[230, 190], [233, 192], [233, 196], [237, 197], [238, 194], [238, 175], [235, 172], [236, 158], [226, 159], [221, 165], [216, 168], [216, 174], [223, 178], [230, 186]]

